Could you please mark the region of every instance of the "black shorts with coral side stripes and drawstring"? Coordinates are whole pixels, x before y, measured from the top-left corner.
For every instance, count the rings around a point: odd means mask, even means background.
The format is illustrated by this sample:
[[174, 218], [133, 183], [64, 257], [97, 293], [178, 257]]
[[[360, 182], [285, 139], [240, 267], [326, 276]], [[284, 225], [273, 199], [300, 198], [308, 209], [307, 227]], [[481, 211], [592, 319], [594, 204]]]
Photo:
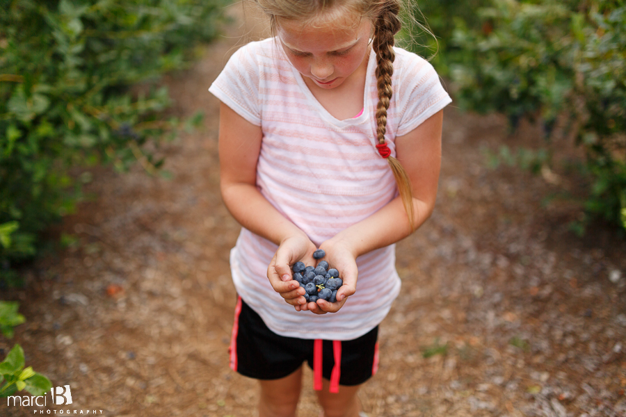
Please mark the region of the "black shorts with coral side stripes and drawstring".
[[[351, 341], [321, 341], [280, 336], [272, 332], [246, 302], [237, 300], [230, 343], [232, 370], [255, 379], [291, 375], [307, 361], [314, 373], [314, 388], [321, 378], [338, 385], [358, 385], [378, 368], [378, 326]], [[335, 363], [339, 366], [335, 366]]]

